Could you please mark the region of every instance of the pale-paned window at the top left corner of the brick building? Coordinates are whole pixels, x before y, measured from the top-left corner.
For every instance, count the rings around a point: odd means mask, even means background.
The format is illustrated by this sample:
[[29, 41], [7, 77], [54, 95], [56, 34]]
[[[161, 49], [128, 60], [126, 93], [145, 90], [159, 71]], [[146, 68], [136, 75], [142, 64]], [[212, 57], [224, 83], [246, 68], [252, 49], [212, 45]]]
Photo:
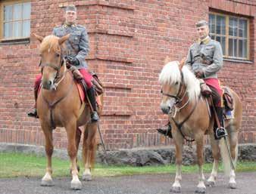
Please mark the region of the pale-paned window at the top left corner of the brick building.
[[4, 1], [1, 4], [1, 40], [30, 37], [31, 3]]

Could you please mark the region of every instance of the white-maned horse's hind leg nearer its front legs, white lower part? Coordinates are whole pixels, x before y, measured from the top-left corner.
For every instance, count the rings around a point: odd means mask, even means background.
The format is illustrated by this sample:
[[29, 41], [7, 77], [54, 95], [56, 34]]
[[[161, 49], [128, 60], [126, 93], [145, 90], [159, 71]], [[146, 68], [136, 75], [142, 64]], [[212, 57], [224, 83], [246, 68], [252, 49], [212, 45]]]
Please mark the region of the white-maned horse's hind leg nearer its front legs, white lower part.
[[207, 180], [207, 186], [214, 186], [216, 177], [217, 177], [217, 171], [219, 168], [219, 160], [220, 160], [220, 151], [219, 151], [219, 144], [218, 141], [214, 139], [214, 134], [210, 134], [210, 142], [211, 142], [211, 150], [212, 150], [212, 155], [214, 158], [214, 165], [211, 170], [211, 175]]

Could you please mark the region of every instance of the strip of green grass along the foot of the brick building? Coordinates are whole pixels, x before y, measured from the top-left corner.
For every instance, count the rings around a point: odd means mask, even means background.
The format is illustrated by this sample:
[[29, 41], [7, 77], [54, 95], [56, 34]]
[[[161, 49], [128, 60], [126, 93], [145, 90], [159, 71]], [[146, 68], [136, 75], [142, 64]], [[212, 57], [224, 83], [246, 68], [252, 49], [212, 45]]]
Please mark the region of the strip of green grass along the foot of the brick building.
[[[83, 164], [80, 168], [83, 171]], [[46, 158], [35, 155], [25, 155], [16, 152], [0, 152], [0, 177], [42, 177], [45, 174]], [[54, 177], [70, 176], [70, 162], [52, 159]], [[211, 164], [204, 165], [204, 172], [211, 172]], [[131, 174], [164, 174], [175, 173], [175, 165], [160, 165], [146, 167], [95, 165], [92, 174], [95, 177], [110, 177]], [[221, 171], [220, 167], [220, 171]], [[256, 162], [239, 162], [237, 171], [256, 171]], [[198, 172], [197, 165], [183, 166], [183, 173]], [[80, 175], [82, 172], [80, 171]]]

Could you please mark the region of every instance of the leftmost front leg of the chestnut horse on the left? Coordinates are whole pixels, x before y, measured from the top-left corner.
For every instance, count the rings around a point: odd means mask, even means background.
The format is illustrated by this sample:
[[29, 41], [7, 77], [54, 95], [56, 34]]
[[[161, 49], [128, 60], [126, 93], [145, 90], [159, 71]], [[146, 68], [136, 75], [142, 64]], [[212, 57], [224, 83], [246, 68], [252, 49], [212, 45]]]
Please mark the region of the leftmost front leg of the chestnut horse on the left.
[[47, 167], [45, 176], [42, 177], [41, 186], [53, 186], [52, 182], [52, 129], [46, 125], [42, 125], [42, 131], [45, 134], [45, 152], [47, 156]]

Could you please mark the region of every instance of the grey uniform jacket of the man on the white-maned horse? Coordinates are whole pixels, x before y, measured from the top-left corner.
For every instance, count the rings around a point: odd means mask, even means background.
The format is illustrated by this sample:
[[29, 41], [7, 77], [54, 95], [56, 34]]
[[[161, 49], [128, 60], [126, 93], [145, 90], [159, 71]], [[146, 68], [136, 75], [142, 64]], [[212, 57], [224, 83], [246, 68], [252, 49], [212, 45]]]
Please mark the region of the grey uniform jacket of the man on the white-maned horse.
[[189, 48], [186, 65], [191, 66], [193, 72], [201, 69], [204, 72], [203, 79], [217, 78], [217, 72], [223, 66], [220, 43], [210, 37], [202, 42], [195, 42]]

